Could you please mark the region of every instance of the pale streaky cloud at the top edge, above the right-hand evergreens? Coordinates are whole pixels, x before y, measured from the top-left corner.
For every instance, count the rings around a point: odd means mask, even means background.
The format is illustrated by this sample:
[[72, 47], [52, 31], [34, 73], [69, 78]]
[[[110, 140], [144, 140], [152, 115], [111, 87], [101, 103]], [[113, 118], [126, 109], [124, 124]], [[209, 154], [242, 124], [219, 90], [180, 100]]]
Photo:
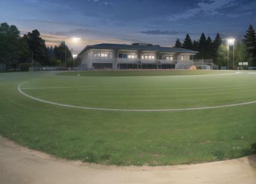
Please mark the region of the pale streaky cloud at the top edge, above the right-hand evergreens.
[[182, 19], [190, 19], [198, 15], [218, 15], [221, 9], [232, 7], [236, 5], [234, 0], [212, 0], [212, 1], [201, 1], [197, 3], [193, 9], [188, 9], [185, 12], [179, 14], [169, 15], [166, 17], [167, 20], [177, 21]]

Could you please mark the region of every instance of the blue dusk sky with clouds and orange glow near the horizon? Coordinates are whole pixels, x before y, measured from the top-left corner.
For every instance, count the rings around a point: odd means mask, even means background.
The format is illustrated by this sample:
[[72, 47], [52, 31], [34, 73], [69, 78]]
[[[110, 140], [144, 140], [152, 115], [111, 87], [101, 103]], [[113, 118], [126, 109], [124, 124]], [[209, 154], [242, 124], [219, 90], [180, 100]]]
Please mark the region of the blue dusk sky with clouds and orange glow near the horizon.
[[[47, 45], [64, 36], [81, 37], [88, 44], [153, 43], [173, 46], [185, 34], [199, 39], [202, 32], [242, 39], [249, 24], [255, 27], [253, 0], [1, 0], [0, 22], [20, 31], [38, 29]], [[71, 39], [69, 47], [73, 47]]]

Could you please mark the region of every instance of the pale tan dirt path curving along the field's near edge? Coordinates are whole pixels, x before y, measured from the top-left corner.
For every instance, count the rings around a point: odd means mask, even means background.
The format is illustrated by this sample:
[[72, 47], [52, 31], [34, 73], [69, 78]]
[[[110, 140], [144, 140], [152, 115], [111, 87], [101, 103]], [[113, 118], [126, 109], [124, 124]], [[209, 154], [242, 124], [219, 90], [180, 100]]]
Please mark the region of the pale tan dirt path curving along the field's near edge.
[[117, 167], [65, 161], [0, 137], [0, 183], [256, 183], [256, 155], [196, 165]]

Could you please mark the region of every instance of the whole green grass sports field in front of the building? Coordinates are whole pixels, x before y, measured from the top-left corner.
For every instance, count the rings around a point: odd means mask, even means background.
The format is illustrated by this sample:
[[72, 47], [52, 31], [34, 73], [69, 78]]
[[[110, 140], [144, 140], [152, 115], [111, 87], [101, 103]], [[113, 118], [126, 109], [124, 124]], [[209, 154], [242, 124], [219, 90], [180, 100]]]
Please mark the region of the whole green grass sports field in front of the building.
[[[58, 104], [19, 93], [18, 85], [24, 81], [23, 93]], [[56, 157], [155, 166], [255, 152], [256, 103], [183, 109], [256, 101], [256, 74], [185, 70], [0, 73], [0, 87], [0, 134]], [[88, 107], [106, 110], [84, 109]]]

